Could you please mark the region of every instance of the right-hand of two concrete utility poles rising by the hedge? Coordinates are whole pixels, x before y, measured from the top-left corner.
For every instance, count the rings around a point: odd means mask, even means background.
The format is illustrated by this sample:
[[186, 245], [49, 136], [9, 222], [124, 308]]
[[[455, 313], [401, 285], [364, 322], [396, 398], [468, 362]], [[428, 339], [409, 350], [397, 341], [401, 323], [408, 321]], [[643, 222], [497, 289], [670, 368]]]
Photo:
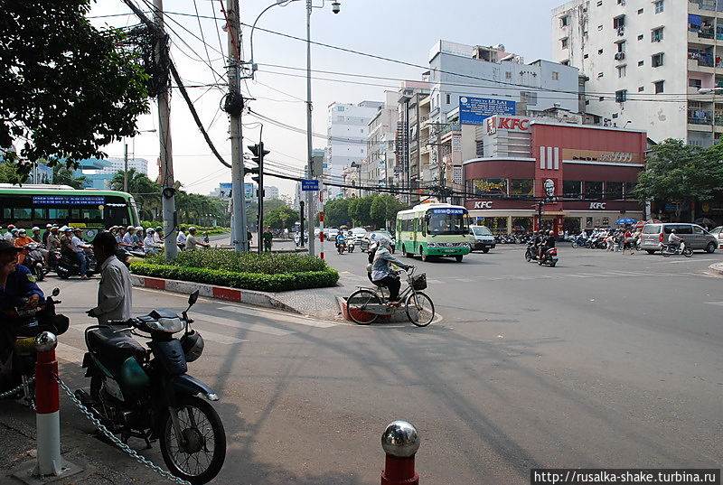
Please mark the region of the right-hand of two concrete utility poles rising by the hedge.
[[[229, 95], [232, 98], [239, 98], [240, 94], [240, 14], [239, 0], [230, 0], [229, 11], [226, 13], [229, 19], [227, 32], [229, 33]], [[243, 103], [241, 102], [241, 105]], [[249, 239], [247, 236], [246, 224], [246, 201], [244, 201], [244, 167], [243, 167], [243, 127], [241, 126], [241, 109], [231, 109], [230, 116], [230, 137], [231, 137], [231, 221], [233, 225], [232, 241], [238, 252], [249, 250]], [[261, 235], [259, 234], [260, 238]]]

